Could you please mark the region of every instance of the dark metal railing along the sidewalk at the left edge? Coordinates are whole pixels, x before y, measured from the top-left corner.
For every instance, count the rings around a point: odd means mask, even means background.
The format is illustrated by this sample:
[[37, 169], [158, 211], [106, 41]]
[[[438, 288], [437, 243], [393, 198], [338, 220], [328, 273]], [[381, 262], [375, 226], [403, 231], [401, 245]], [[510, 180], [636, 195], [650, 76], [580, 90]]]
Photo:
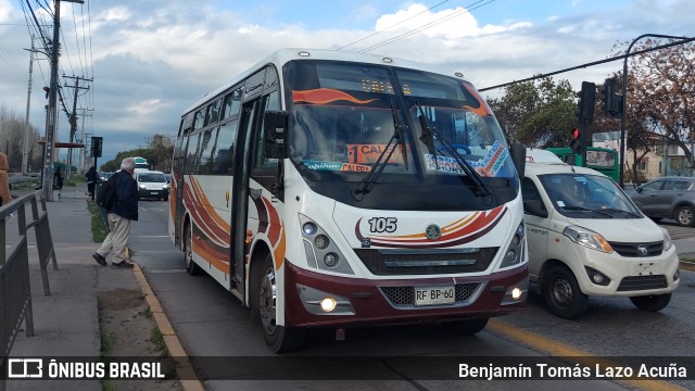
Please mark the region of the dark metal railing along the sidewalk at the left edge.
[[[41, 210], [38, 204], [40, 202]], [[31, 215], [27, 223], [27, 206]], [[16, 217], [12, 217], [16, 214]], [[18, 237], [8, 245], [7, 223], [9, 218], [17, 218]], [[27, 248], [27, 230], [34, 228], [39, 253], [43, 294], [50, 294], [48, 282], [48, 264], [53, 261], [53, 269], [58, 269], [58, 261], [51, 239], [51, 230], [46, 210], [46, 199], [41, 191], [26, 194], [0, 207], [0, 343], [2, 357], [0, 368], [5, 370], [4, 357], [10, 354], [15, 337], [25, 321], [26, 336], [34, 336], [34, 316], [31, 312], [31, 289], [29, 282], [29, 255]], [[7, 374], [7, 371], [4, 371]], [[2, 376], [4, 377], [4, 376]], [[0, 378], [0, 390], [4, 381]]]

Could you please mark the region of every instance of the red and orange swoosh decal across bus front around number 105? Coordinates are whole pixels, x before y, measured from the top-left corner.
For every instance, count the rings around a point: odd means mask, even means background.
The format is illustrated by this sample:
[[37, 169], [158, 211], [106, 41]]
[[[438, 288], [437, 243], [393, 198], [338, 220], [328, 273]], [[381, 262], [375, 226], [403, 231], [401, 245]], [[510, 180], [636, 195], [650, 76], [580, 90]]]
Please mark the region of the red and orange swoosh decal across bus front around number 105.
[[[427, 239], [425, 232], [407, 235], [371, 235], [371, 245], [397, 249], [428, 249], [428, 248], [450, 248], [471, 242], [494, 228], [507, 212], [505, 205], [497, 206], [491, 211], [475, 212], [469, 216], [453, 222], [442, 228], [442, 236], [437, 240]], [[363, 241], [365, 236], [359, 230], [359, 223], [355, 225], [355, 236]]]

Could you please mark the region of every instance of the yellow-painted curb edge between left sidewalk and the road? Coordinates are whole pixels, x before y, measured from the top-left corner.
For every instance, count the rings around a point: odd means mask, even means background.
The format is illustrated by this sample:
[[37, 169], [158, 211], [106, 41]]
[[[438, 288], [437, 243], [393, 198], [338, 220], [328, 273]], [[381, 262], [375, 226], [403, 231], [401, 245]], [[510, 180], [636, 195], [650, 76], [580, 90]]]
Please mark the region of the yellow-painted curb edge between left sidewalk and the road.
[[134, 264], [132, 274], [135, 275], [135, 279], [138, 281], [142, 293], [144, 293], [144, 300], [148, 302], [152, 316], [154, 317], [154, 321], [164, 337], [164, 343], [166, 344], [166, 349], [169, 351], [169, 356], [176, 362], [176, 375], [178, 376], [178, 381], [181, 383], [185, 391], [204, 391], [205, 388], [203, 387], [203, 383], [197, 379], [195, 370], [188, 358], [188, 354], [179, 341], [178, 336], [176, 336], [176, 331], [174, 331], [174, 327], [172, 327], [172, 323], [169, 323], [168, 317], [164, 313], [154, 291], [152, 291], [152, 287], [150, 287], [147, 277], [144, 277], [144, 273], [142, 273], [140, 265], [137, 263]]

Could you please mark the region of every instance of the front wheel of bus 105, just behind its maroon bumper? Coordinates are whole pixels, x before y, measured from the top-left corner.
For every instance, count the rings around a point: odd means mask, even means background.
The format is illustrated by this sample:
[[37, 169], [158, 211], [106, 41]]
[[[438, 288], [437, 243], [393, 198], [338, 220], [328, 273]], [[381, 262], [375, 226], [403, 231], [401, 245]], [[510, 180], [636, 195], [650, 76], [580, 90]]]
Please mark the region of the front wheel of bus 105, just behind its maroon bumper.
[[255, 278], [258, 292], [258, 313], [265, 342], [276, 352], [290, 352], [302, 348], [306, 329], [277, 325], [277, 285], [273, 255], [268, 254], [263, 263], [261, 274]]

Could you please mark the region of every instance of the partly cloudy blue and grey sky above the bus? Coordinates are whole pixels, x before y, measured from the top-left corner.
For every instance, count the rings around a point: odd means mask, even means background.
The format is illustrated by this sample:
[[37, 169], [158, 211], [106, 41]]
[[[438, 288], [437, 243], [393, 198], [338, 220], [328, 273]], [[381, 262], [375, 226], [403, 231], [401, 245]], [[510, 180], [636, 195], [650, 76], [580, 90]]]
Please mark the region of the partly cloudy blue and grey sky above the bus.
[[[52, 0], [0, 0], [0, 108], [24, 117], [36, 27]], [[41, 5], [45, 8], [42, 9]], [[61, 1], [61, 85], [80, 81], [78, 138], [103, 137], [99, 163], [176, 137], [184, 110], [281, 48], [368, 51], [464, 73], [478, 89], [612, 56], [643, 34], [695, 36], [692, 0]], [[36, 41], [40, 47], [40, 41]], [[46, 55], [34, 61], [29, 122], [45, 134]], [[615, 61], [554, 76], [576, 90]], [[501, 89], [483, 92], [497, 97]], [[63, 87], [72, 111], [74, 88]], [[84, 110], [80, 110], [84, 109]], [[83, 116], [81, 114], [86, 114]], [[68, 141], [59, 112], [56, 141]], [[58, 160], [66, 151], [56, 150]]]

